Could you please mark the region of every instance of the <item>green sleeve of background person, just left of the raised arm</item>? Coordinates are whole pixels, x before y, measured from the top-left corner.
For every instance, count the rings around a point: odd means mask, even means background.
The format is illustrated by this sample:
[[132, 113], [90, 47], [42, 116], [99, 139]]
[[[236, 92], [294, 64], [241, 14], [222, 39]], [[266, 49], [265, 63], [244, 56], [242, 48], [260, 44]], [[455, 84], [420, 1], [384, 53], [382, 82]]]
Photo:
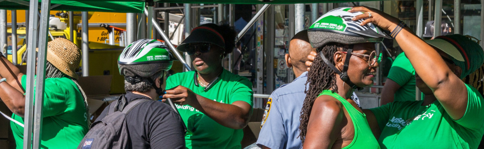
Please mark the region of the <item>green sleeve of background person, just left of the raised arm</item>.
[[405, 56], [405, 53], [401, 53], [393, 61], [392, 68], [388, 73], [389, 79], [395, 81], [398, 85], [405, 85], [414, 75], [415, 69], [413, 68], [410, 60]]

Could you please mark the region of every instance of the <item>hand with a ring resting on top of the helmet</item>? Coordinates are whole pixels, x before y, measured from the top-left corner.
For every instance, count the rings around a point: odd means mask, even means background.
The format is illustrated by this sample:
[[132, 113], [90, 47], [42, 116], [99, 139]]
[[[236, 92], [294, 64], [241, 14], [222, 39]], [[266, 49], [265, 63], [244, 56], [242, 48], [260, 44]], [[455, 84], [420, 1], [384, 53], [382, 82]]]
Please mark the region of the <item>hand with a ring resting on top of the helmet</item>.
[[[368, 23], [373, 23], [374, 25], [380, 27], [383, 30], [393, 31], [398, 25], [400, 20], [392, 15], [388, 15], [374, 8], [369, 8], [366, 6], [355, 6], [348, 12], [363, 12], [362, 15], [356, 15], [351, 18], [352, 20], [365, 19], [360, 25], [365, 25]], [[369, 16], [371, 13], [371, 17]]]

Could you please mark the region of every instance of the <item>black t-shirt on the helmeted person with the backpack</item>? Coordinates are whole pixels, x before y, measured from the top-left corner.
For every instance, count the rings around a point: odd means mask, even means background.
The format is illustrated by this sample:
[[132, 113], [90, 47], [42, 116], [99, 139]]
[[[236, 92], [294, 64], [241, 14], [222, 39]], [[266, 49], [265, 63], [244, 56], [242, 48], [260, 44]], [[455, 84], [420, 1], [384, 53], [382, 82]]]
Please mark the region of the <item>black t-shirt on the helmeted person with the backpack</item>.
[[[127, 92], [129, 102], [136, 99], [150, 99], [143, 95]], [[106, 117], [106, 107], [96, 121]], [[126, 115], [131, 149], [185, 149], [183, 122], [168, 104], [148, 101], [138, 104]]]

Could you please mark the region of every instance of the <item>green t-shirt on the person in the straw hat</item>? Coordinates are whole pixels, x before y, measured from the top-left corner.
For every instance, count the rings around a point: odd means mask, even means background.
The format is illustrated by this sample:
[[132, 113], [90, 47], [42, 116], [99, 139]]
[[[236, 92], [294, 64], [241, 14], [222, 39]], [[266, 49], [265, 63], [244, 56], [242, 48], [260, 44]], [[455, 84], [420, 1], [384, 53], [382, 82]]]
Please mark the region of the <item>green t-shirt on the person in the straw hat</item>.
[[[22, 87], [27, 87], [27, 75], [22, 76]], [[35, 95], [35, 91], [34, 91]], [[76, 84], [69, 78], [45, 79], [42, 122], [42, 149], [76, 149], [88, 132], [84, 99]], [[24, 123], [24, 118], [12, 115]], [[10, 122], [17, 149], [23, 148], [24, 128]]]

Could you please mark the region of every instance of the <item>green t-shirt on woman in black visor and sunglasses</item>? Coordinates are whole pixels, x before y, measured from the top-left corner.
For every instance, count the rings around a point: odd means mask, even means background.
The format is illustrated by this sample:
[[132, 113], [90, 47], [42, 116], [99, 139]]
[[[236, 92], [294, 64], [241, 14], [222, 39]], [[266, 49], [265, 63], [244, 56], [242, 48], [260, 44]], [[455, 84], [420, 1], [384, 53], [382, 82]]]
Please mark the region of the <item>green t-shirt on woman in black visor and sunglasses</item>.
[[[244, 101], [251, 105], [253, 99], [252, 83], [245, 77], [234, 75], [225, 70], [211, 88], [196, 85], [195, 71], [178, 73], [168, 77], [166, 89], [179, 85], [208, 99], [224, 104]], [[187, 149], [241, 149], [242, 129], [235, 130], [220, 125], [190, 105], [177, 105], [181, 118], [187, 127], [185, 142]]]

